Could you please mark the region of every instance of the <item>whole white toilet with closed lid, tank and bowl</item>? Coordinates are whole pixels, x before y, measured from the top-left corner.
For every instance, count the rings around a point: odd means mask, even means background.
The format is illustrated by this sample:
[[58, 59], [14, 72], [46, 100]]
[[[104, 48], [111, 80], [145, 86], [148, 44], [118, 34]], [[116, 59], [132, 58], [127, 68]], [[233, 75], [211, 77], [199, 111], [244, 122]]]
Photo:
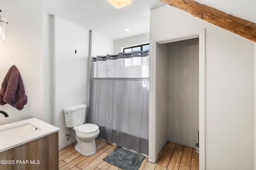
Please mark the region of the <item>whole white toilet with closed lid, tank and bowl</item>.
[[96, 152], [95, 139], [100, 130], [92, 123], [83, 124], [86, 115], [86, 105], [80, 104], [63, 109], [66, 127], [72, 127], [76, 132], [77, 145], [75, 149], [84, 156], [90, 156]]

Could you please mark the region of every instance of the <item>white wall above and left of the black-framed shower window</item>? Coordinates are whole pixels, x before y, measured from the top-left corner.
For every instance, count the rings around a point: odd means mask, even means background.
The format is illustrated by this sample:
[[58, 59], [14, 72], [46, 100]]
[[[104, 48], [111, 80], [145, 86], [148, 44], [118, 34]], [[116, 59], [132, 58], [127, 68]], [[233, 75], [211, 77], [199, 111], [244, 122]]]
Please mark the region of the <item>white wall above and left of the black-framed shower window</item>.
[[130, 47], [145, 43], [149, 43], [149, 33], [143, 33], [131, 37], [114, 40], [114, 54], [123, 52], [121, 49], [122, 47]]

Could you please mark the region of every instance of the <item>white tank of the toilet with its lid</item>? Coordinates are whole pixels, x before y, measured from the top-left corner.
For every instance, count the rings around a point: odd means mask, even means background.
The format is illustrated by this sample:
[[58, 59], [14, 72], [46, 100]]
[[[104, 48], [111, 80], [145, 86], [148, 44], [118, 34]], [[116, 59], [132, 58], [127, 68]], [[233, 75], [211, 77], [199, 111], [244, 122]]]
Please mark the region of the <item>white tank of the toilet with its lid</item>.
[[85, 104], [66, 107], [63, 109], [65, 115], [66, 127], [75, 127], [85, 121]]

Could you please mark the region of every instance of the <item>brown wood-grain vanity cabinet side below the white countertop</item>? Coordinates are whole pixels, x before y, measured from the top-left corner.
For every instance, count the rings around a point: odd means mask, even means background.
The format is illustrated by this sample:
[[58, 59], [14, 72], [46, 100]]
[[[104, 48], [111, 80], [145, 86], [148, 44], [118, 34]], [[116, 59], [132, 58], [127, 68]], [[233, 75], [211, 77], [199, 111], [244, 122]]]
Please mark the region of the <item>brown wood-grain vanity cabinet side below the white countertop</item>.
[[58, 170], [58, 149], [58, 132], [55, 132], [0, 152], [0, 170]]

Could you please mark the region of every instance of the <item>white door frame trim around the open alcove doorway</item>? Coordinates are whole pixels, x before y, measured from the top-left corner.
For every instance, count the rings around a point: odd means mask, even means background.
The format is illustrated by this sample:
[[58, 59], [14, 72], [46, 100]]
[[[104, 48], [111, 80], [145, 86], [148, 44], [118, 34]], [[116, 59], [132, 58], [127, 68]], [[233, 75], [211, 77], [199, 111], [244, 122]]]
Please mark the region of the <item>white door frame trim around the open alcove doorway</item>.
[[156, 46], [158, 44], [199, 38], [199, 169], [205, 169], [205, 29], [183, 35], [152, 39], [150, 42], [149, 140], [148, 161], [155, 163], [156, 153]]

